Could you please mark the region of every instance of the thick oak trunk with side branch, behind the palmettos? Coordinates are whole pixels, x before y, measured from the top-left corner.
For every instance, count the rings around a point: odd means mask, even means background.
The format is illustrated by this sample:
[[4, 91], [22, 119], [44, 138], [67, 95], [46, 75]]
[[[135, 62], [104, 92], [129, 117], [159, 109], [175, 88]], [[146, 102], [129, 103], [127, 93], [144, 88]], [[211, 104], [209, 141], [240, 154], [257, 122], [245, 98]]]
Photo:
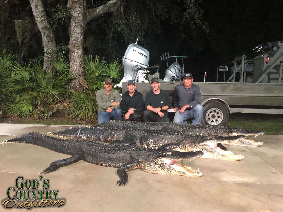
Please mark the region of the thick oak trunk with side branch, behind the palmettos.
[[83, 35], [87, 21], [102, 16], [105, 13], [117, 10], [120, 5], [119, 0], [111, 0], [100, 7], [85, 10], [85, 0], [68, 0], [68, 9], [71, 14], [71, 23], [69, 27], [70, 41], [70, 70], [77, 76], [72, 79], [71, 87], [76, 91], [82, 91], [83, 85], [80, 83], [83, 79]]

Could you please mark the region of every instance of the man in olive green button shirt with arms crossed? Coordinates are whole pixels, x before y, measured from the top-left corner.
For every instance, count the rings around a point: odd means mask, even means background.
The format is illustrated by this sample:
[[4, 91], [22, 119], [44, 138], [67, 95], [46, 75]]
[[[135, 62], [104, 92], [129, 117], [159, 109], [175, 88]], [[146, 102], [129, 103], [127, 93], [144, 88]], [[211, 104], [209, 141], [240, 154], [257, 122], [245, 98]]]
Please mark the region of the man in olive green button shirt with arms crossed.
[[107, 122], [110, 118], [121, 120], [120, 94], [112, 89], [112, 79], [105, 79], [104, 88], [96, 92], [96, 101], [98, 104], [98, 124]]

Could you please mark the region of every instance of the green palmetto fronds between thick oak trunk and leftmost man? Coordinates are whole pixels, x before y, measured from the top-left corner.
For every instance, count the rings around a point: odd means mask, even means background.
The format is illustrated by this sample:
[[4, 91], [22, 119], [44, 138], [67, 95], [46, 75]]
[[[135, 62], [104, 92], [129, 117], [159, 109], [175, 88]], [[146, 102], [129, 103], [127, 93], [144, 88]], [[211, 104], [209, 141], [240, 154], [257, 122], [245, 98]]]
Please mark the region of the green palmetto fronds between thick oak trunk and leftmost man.
[[85, 80], [82, 85], [85, 87], [84, 92], [72, 90], [70, 100], [72, 108], [71, 117], [81, 120], [97, 122], [98, 105], [96, 101], [96, 92], [104, 88], [104, 79], [111, 78], [113, 83], [117, 83], [122, 75], [119, 71], [122, 66], [118, 60], [106, 64], [104, 58], [85, 57]]

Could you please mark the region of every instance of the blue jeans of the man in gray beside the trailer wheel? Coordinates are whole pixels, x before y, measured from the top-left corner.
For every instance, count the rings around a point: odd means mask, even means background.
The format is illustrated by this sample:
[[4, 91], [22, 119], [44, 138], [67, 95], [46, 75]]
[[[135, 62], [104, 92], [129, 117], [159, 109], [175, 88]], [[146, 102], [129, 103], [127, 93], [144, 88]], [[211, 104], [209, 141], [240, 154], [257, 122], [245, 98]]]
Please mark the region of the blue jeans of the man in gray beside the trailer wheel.
[[181, 113], [180, 110], [178, 110], [175, 113], [173, 122], [181, 123], [181, 124], [188, 124], [186, 120], [189, 118], [193, 118], [194, 120], [192, 121], [192, 123], [200, 124], [202, 114], [203, 114], [203, 107], [201, 105], [196, 105], [193, 108], [187, 111], [184, 111], [184, 113]]

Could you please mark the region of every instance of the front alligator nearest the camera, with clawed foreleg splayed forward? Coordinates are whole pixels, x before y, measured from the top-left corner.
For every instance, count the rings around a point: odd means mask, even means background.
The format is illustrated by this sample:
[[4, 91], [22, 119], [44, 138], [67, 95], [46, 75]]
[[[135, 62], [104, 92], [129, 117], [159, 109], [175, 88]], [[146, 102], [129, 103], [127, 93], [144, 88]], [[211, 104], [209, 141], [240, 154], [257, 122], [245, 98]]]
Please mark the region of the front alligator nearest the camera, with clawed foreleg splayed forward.
[[34, 144], [55, 152], [72, 155], [72, 157], [52, 162], [41, 172], [43, 174], [53, 172], [60, 167], [70, 165], [79, 160], [84, 160], [96, 165], [118, 168], [117, 174], [120, 178], [117, 181], [118, 186], [127, 184], [128, 175], [126, 171], [135, 168], [142, 168], [144, 171], [154, 174], [202, 176], [199, 170], [194, 170], [190, 166], [183, 166], [176, 162], [176, 160], [201, 157], [203, 155], [201, 151], [177, 152], [167, 149], [155, 150], [118, 143], [105, 145], [93, 141], [60, 139], [35, 132], [27, 133], [5, 142]]

